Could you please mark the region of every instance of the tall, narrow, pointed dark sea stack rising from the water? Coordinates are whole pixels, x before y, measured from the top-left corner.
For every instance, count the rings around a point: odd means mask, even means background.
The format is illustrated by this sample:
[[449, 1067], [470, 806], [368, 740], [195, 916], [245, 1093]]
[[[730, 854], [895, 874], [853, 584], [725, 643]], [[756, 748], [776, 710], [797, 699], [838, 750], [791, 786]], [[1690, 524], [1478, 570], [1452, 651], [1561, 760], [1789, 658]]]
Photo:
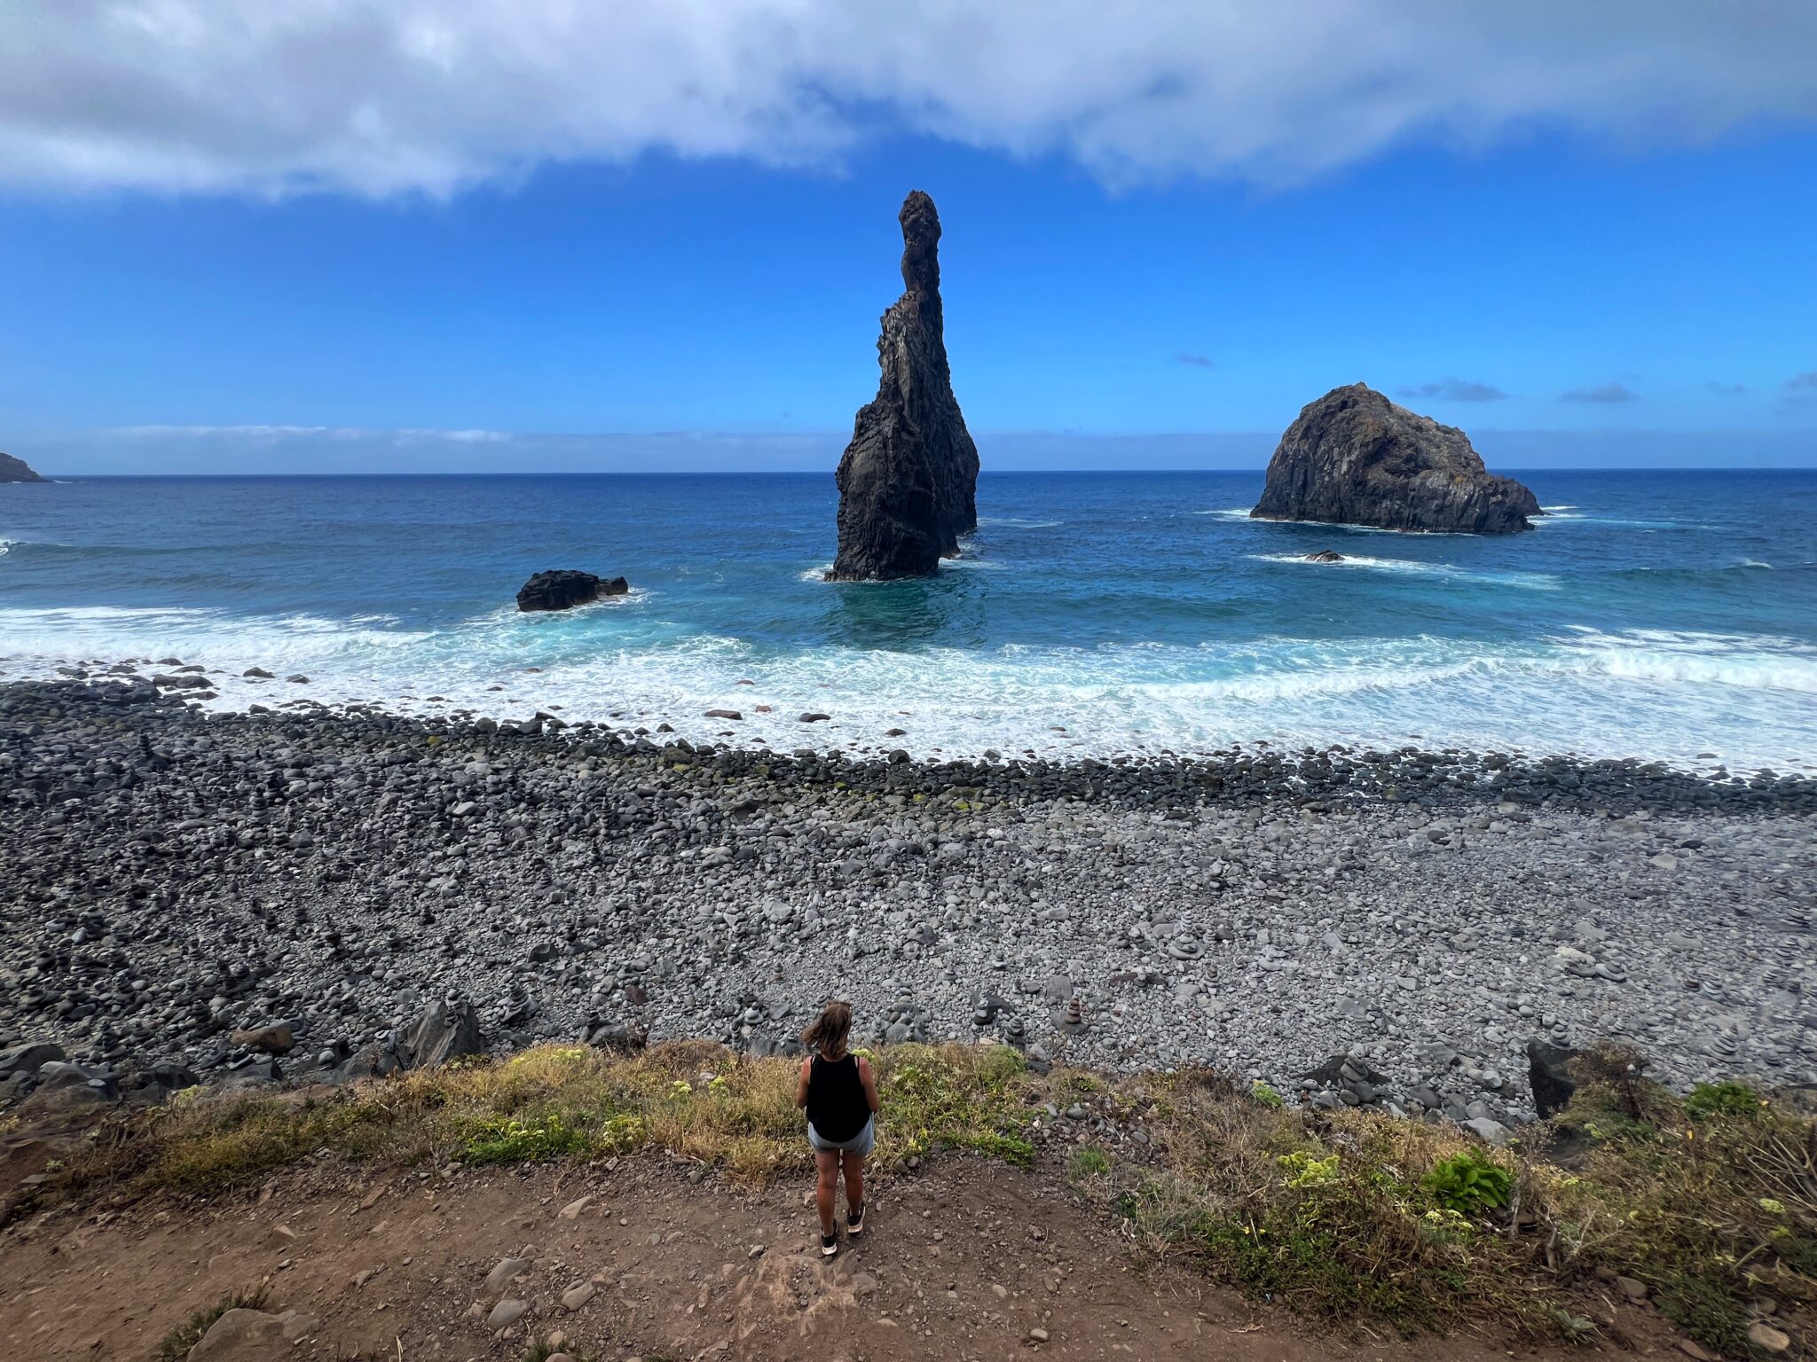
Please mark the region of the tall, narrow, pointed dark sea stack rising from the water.
[[839, 459], [839, 556], [829, 581], [925, 577], [978, 528], [978, 447], [952, 396], [939, 307], [939, 214], [903, 200], [903, 296], [883, 314], [878, 396]]

